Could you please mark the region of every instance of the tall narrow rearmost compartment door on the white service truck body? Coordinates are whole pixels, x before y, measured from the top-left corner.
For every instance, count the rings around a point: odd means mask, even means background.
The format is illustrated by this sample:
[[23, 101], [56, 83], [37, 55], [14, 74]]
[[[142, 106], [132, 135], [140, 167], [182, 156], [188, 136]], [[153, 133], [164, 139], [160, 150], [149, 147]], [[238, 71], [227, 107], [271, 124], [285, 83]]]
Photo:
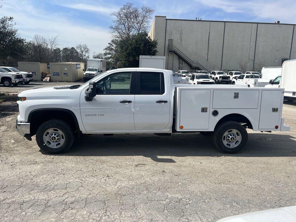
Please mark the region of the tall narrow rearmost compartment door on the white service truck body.
[[[262, 90], [259, 129], [274, 129], [279, 126], [281, 90]], [[277, 108], [277, 112], [273, 109]]]

